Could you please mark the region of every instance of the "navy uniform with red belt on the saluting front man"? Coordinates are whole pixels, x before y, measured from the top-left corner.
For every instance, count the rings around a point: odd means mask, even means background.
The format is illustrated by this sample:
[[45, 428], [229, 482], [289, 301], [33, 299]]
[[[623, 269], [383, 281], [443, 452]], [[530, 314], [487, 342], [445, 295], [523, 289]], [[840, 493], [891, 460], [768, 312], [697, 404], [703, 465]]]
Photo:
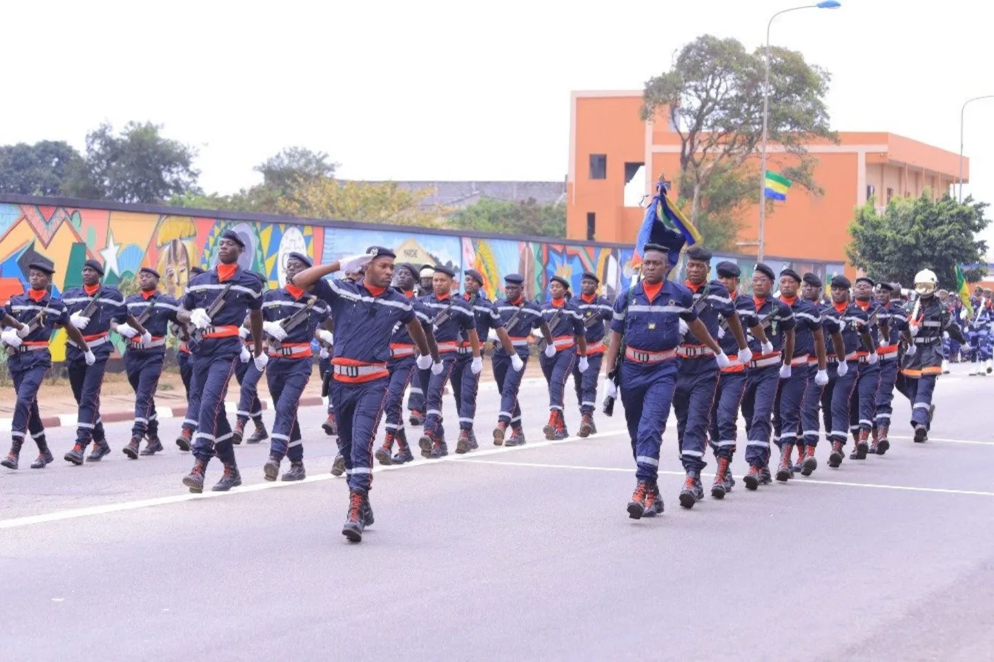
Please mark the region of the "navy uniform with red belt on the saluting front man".
[[414, 306], [393, 288], [370, 291], [365, 283], [322, 279], [312, 294], [335, 320], [331, 397], [338, 421], [338, 451], [349, 489], [367, 494], [373, 484], [373, 443], [390, 386], [390, 343], [398, 323], [414, 320]]

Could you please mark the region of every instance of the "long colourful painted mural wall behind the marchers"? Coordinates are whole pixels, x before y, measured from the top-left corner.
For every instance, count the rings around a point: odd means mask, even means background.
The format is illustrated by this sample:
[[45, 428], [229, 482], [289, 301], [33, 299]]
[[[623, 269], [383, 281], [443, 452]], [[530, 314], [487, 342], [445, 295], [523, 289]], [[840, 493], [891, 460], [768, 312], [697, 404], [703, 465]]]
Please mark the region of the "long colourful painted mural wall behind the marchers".
[[[104, 265], [104, 283], [116, 285], [132, 279], [143, 266], [162, 274], [160, 289], [180, 297], [190, 267], [210, 268], [217, 263], [218, 237], [238, 232], [246, 243], [244, 268], [261, 274], [270, 288], [286, 282], [286, 255], [302, 252], [315, 263], [327, 263], [364, 252], [368, 246], [393, 248], [398, 260], [415, 265], [446, 265], [458, 275], [479, 271], [490, 298], [500, 296], [503, 279], [518, 273], [525, 277], [526, 295], [544, 298], [550, 279], [562, 276], [580, 290], [584, 272], [601, 282], [601, 291], [614, 297], [631, 279], [632, 250], [616, 246], [590, 246], [507, 237], [477, 238], [458, 234], [429, 234], [357, 229], [293, 222], [227, 220], [219, 217], [175, 213], [148, 213], [100, 208], [13, 204], [0, 202], [0, 301], [20, 294], [27, 286], [28, 264], [44, 256], [56, 264], [57, 294], [82, 284], [83, 262], [95, 259]], [[716, 256], [714, 263], [734, 259], [751, 272], [755, 262], [747, 257]], [[842, 273], [843, 265], [790, 263], [767, 260], [779, 270], [791, 265], [800, 272], [813, 271], [823, 279]], [[678, 276], [682, 279], [682, 275]], [[461, 280], [461, 278], [460, 278]], [[747, 277], [744, 278], [747, 285]], [[65, 357], [64, 331], [53, 340], [53, 359]], [[123, 345], [116, 338], [118, 348]]]

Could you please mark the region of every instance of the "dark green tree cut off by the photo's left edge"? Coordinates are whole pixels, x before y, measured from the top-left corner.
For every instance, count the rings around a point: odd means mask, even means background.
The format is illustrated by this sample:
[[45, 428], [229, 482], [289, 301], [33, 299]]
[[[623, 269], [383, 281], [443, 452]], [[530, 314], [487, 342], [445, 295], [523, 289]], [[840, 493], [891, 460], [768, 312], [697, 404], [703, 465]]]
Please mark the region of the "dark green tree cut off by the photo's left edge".
[[66, 196], [66, 183], [83, 158], [72, 145], [43, 140], [0, 147], [0, 192], [22, 196]]

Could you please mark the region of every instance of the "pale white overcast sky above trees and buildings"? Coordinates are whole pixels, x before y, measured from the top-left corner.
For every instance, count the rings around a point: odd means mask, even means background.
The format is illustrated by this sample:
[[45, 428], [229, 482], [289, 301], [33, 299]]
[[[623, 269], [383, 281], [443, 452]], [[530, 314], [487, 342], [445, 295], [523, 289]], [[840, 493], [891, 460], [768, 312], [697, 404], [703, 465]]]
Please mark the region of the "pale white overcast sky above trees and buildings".
[[[831, 71], [834, 128], [958, 153], [961, 104], [994, 94], [994, 10], [842, 3], [772, 30]], [[82, 148], [102, 120], [149, 119], [198, 146], [202, 186], [222, 193], [256, 183], [252, 166], [290, 145], [327, 152], [348, 179], [562, 180], [571, 90], [641, 89], [706, 33], [759, 46], [769, 17], [797, 4], [5, 3], [0, 143]], [[994, 99], [967, 107], [972, 189], [994, 202], [992, 120]]]

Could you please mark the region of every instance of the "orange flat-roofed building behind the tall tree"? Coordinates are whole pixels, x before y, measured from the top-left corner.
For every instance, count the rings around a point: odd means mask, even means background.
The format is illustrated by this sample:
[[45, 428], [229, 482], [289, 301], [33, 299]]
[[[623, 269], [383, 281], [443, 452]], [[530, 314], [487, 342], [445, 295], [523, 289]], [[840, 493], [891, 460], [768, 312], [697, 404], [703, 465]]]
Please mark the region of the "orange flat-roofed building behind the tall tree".
[[[668, 179], [679, 173], [680, 136], [670, 126], [668, 113], [643, 122], [641, 106], [641, 91], [573, 93], [567, 177], [569, 238], [632, 241], [642, 221], [642, 196], [653, 193], [661, 172]], [[958, 154], [893, 133], [844, 132], [839, 138], [839, 144], [807, 146], [818, 161], [815, 181], [825, 193], [814, 196], [794, 187], [786, 201], [773, 203], [766, 213], [765, 256], [845, 263], [848, 226], [856, 206], [872, 196], [878, 205], [885, 205], [893, 196], [917, 197], [926, 189], [937, 198], [958, 178]], [[789, 158], [778, 145], [769, 145], [766, 153], [768, 169], [774, 172]], [[963, 177], [968, 181], [969, 164], [963, 161]], [[736, 252], [754, 256], [758, 205], [744, 213]]]

